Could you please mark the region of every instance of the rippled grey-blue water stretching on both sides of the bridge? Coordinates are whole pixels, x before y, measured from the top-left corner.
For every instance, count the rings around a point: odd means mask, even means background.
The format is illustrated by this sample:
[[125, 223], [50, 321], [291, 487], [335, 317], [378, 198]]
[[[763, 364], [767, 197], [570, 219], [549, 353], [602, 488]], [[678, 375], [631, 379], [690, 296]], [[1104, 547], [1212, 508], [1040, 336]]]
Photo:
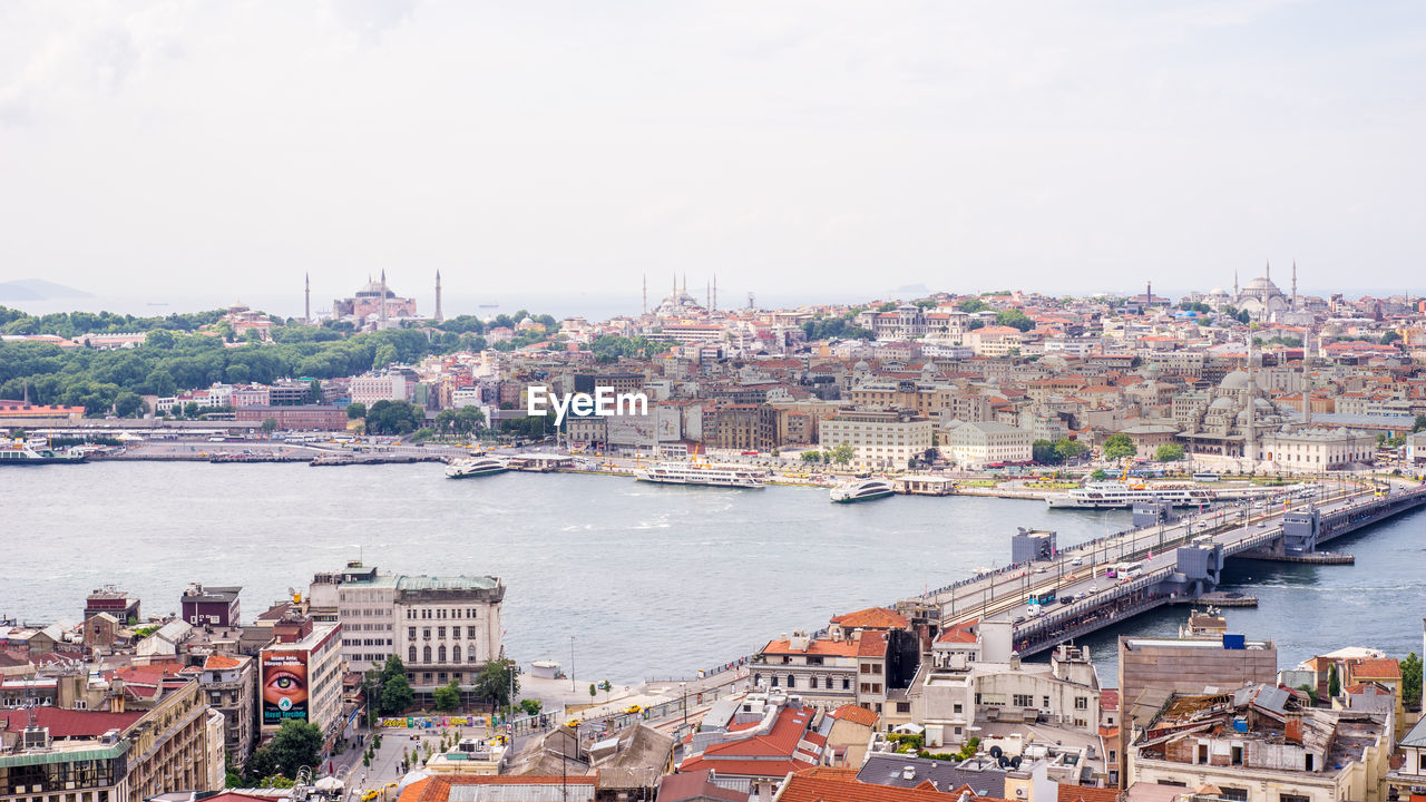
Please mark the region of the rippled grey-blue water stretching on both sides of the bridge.
[[[242, 585], [251, 616], [314, 572], [362, 555], [389, 571], [499, 575], [509, 588], [508, 654], [566, 661], [573, 635], [579, 674], [616, 681], [719, 665], [780, 632], [1004, 564], [1015, 527], [1057, 529], [1064, 547], [1127, 519], [992, 498], [836, 505], [806, 488], [663, 488], [586, 475], [451, 482], [439, 465], [421, 464], [100, 462], [10, 471], [4, 482], [0, 521], [31, 537], [7, 552], [3, 614], [73, 622], [84, 595], [106, 582], [167, 612], [201, 581]], [[1343, 638], [1392, 654], [1419, 648], [1410, 615], [1370, 611], [1420, 612], [1426, 577], [1402, 554], [1420, 549], [1410, 525], [1422, 519], [1333, 544], [1358, 555], [1355, 567], [1229, 571], [1235, 589], [1263, 599], [1229, 611], [1229, 625], [1275, 638], [1283, 665]], [[1085, 639], [1104, 681], [1114, 684], [1115, 635], [1172, 634], [1184, 612]]]

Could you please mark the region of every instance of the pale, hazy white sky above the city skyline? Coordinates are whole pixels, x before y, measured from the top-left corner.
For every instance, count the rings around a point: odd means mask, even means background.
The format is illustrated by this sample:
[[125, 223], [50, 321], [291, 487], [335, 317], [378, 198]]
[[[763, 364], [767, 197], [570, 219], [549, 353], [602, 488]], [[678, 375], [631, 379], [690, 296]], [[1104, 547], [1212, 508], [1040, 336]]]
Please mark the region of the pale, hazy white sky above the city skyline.
[[1420, 293], [1423, 74], [1393, 0], [10, 0], [0, 281]]

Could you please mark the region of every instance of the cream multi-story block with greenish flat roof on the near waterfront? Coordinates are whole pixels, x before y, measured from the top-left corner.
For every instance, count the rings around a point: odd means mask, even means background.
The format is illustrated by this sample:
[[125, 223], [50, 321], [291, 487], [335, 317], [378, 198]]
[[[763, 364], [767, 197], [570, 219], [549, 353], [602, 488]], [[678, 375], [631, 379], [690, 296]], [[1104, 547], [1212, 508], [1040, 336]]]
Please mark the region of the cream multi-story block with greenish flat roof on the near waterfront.
[[503, 656], [503, 599], [496, 577], [379, 574], [359, 562], [314, 577], [308, 598], [315, 618], [342, 624], [351, 671], [398, 655], [418, 691], [472, 685], [486, 661]]

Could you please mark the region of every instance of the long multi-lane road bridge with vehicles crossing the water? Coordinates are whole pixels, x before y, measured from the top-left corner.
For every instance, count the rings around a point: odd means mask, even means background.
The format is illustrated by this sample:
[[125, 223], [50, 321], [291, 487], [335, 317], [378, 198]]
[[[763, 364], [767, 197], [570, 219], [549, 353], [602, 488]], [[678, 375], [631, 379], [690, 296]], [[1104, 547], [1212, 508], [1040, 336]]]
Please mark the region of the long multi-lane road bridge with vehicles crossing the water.
[[1318, 547], [1422, 507], [1423, 485], [1243, 502], [1182, 517], [1166, 505], [1144, 505], [1135, 508], [1135, 528], [1065, 549], [1057, 548], [1054, 532], [1021, 529], [1011, 565], [903, 604], [938, 609], [943, 629], [1008, 619], [1015, 649], [1028, 656], [1165, 604], [1214, 601], [1222, 597], [1219, 575], [1229, 558], [1350, 562], [1350, 555]]

